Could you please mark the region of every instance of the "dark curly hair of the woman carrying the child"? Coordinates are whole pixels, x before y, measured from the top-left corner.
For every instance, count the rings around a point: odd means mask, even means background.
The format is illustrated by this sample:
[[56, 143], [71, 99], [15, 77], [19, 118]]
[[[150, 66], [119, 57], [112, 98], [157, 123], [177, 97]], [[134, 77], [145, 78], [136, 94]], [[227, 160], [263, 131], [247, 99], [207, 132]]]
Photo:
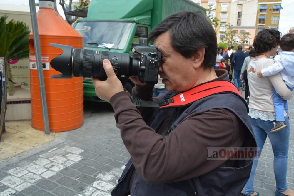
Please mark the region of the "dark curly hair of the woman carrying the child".
[[254, 38], [253, 46], [257, 54], [270, 51], [280, 44], [280, 31], [263, 29]]

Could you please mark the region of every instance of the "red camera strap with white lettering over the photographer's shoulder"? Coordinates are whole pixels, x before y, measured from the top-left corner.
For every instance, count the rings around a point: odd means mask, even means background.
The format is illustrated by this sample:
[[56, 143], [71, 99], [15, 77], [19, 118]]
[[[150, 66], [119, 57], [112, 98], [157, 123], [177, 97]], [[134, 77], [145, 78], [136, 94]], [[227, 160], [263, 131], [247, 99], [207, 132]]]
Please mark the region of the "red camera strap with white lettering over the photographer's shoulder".
[[160, 103], [159, 108], [167, 108], [167, 107], [181, 107], [183, 105], [188, 105], [202, 99], [204, 97], [215, 95], [215, 94], [223, 94], [223, 93], [234, 93], [241, 98], [241, 93], [237, 90], [235, 85], [233, 85], [229, 81], [213, 81], [203, 83], [194, 88], [191, 88], [188, 91], [181, 92], [176, 94], [170, 99], [164, 100]]

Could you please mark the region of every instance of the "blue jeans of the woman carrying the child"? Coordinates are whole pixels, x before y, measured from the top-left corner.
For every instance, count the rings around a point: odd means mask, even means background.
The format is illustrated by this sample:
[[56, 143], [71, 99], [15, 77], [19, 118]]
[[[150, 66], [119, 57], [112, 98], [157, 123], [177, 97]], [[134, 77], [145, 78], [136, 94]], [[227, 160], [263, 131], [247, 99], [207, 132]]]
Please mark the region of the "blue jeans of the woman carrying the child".
[[[290, 125], [288, 116], [284, 118], [287, 127], [282, 130], [271, 133], [270, 129], [273, 128], [273, 121], [261, 120], [260, 118], [255, 119], [249, 116], [250, 123], [252, 125], [254, 135], [257, 142], [257, 147], [260, 151], [263, 148], [266, 137], [270, 139], [270, 143], [273, 147], [274, 153], [274, 173], [276, 180], [277, 191], [283, 192], [288, 189], [287, 187], [287, 163], [288, 163], [288, 150], [289, 150], [289, 136], [290, 136]], [[244, 187], [245, 194], [252, 194], [254, 192], [254, 175], [258, 159], [255, 158], [253, 161], [250, 178]]]

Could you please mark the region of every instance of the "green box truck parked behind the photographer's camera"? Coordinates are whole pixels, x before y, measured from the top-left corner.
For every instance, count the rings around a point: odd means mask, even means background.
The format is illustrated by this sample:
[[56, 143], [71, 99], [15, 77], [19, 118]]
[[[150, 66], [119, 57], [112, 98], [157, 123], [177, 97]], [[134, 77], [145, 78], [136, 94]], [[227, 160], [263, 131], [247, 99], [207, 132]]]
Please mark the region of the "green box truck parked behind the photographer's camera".
[[[146, 42], [154, 26], [185, 10], [206, 12], [190, 0], [92, 0], [80, 12], [87, 17], [78, 19], [74, 28], [84, 37], [84, 49], [132, 55], [132, 48]], [[132, 87], [130, 80], [124, 86], [129, 92]], [[103, 102], [96, 96], [91, 78], [84, 78], [84, 100]]]

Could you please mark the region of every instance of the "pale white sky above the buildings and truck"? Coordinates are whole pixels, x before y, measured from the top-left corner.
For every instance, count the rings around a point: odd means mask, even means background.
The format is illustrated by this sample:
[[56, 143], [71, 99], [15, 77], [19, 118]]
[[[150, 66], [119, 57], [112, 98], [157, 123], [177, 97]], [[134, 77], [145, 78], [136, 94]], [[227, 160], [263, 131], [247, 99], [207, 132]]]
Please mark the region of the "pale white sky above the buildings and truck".
[[[278, 0], [277, 0], [278, 1]], [[38, 0], [35, 0], [38, 3]], [[59, 14], [64, 18], [64, 12], [62, 10], [61, 5], [59, 5], [57, 1], [57, 10]], [[29, 0], [1, 0], [2, 4], [16, 4], [16, 5], [29, 5]], [[279, 22], [279, 31], [283, 34], [286, 34], [287, 31], [290, 30], [291, 27], [294, 27], [294, 2], [293, 0], [282, 0], [283, 9], [280, 14], [280, 22]]]

